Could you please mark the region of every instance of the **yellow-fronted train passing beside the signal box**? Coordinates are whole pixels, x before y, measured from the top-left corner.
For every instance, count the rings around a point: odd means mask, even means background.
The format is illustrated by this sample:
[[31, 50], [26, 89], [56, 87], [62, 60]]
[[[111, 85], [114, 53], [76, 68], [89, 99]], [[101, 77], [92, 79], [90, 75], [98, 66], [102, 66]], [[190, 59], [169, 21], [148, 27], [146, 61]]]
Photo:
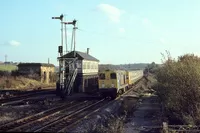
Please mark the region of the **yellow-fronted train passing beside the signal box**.
[[104, 70], [99, 72], [98, 88], [103, 97], [115, 99], [144, 76], [143, 70]]

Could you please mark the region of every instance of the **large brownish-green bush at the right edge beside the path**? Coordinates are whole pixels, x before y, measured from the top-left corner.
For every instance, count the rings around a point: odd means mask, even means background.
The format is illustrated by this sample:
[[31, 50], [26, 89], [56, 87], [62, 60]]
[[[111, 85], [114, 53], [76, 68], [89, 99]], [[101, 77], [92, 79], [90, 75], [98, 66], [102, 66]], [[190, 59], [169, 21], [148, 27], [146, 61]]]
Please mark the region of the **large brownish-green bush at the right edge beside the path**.
[[168, 54], [156, 72], [157, 93], [170, 117], [184, 124], [200, 123], [200, 58], [186, 54], [172, 59]]

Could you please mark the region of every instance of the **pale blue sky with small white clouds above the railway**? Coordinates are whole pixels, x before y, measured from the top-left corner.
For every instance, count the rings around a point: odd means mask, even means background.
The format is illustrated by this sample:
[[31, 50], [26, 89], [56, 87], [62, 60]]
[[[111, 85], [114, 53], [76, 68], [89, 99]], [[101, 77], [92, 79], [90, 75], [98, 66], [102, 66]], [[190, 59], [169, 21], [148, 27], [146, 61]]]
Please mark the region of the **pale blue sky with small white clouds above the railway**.
[[57, 65], [60, 20], [51, 18], [61, 14], [77, 20], [76, 50], [90, 48], [100, 64], [200, 55], [200, 0], [0, 0], [0, 61]]

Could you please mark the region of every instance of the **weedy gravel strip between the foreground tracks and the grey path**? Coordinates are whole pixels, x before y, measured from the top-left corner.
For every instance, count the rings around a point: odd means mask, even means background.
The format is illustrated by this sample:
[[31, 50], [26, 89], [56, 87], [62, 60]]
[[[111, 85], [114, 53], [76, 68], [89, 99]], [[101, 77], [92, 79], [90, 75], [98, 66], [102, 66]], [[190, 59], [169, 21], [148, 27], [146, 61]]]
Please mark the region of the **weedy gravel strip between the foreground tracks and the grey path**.
[[123, 132], [125, 118], [132, 115], [140, 95], [148, 90], [144, 82], [145, 79], [142, 79], [133, 91], [84, 118], [68, 132]]

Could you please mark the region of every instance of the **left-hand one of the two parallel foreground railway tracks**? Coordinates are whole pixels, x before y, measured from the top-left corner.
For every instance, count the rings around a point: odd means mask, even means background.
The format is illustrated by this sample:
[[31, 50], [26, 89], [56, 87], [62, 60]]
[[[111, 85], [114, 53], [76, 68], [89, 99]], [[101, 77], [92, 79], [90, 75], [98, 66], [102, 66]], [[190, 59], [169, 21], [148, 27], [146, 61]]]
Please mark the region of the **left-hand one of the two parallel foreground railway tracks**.
[[37, 129], [53, 120], [60, 119], [63, 114], [70, 113], [71, 111], [86, 106], [89, 103], [91, 103], [91, 101], [72, 101], [70, 103], [63, 104], [58, 107], [51, 108], [49, 110], [1, 125], [0, 132], [26, 131]]

